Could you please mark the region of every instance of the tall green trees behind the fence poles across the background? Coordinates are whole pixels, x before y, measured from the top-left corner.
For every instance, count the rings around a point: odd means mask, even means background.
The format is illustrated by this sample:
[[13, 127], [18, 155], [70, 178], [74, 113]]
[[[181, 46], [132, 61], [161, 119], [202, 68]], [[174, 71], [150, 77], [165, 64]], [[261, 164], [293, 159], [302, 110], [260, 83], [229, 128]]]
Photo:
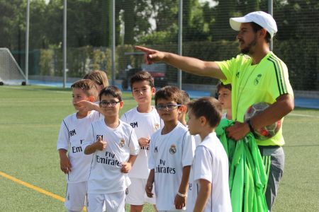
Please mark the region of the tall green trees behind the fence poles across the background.
[[[8, 47], [11, 52], [23, 52], [25, 49], [26, 2], [0, 0], [0, 47]], [[133, 50], [133, 45], [148, 45], [177, 52], [178, 0], [115, 2], [116, 46], [121, 54]], [[103, 58], [107, 57], [109, 52], [100, 54], [103, 50], [94, 51], [94, 48], [108, 48], [111, 44], [110, 4], [111, 1], [106, 0], [67, 1], [67, 47], [89, 47], [89, 50], [86, 48], [85, 54], [94, 54], [96, 63], [104, 63], [105, 67], [109, 64], [103, 61]], [[267, 11], [268, 1], [184, 0], [183, 54], [201, 59], [216, 59], [220, 55], [225, 56], [223, 59], [234, 56], [235, 52], [230, 47], [235, 46], [233, 42], [236, 32], [230, 28], [229, 18], [258, 10]], [[302, 90], [318, 89], [319, 54], [316, 49], [319, 47], [319, 1], [274, 0], [274, 18], [279, 28], [274, 37], [274, 52], [289, 66], [291, 83]], [[61, 49], [62, 21], [63, 0], [30, 0], [30, 50]], [[121, 49], [125, 50], [121, 52]], [[77, 54], [84, 52], [77, 49]], [[83, 58], [85, 57], [84, 55]], [[118, 57], [122, 55], [119, 54]], [[69, 58], [72, 58], [72, 55]], [[56, 57], [53, 59], [59, 60]], [[51, 63], [45, 54], [41, 54], [39, 60], [36, 63]], [[19, 63], [23, 66], [23, 62]], [[84, 62], [78, 61], [74, 64], [74, 69], [82, 66], [81, 63]], [[118, 69], [123, 69], [122, 66], [126, 63], [125, 61]], [[84, 69], [81, 73], [83, 72]], [[76, 75], [75, 72], [72, 74]]]

